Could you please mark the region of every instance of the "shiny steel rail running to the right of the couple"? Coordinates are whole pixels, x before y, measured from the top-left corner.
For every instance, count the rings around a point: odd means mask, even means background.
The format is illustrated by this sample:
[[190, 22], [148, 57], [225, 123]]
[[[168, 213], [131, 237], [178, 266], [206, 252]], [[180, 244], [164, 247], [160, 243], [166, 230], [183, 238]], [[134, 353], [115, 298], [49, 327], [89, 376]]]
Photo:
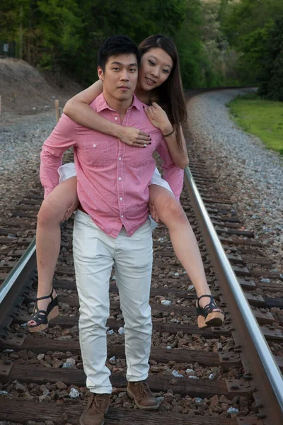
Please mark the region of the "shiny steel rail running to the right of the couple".
[[260, 394], [261, 402], [265, 401], [262, 416], [266, 414], [266, 418], [262, 421], [268, 425], [283, 424], [282, 374], [221, 246], [188, 166], [185, 169], [185, 184], [192, 208], [200, 223], [210, 260], [215, 268], [216, 276], [219, 278], [221, 291], [230, 309], [229, 314], [233, 319], [233, 327], [237, 331], [243, 350], [245, 368], [248, 366], [248, 370], [252, 373], [252, 379], [256, 385], [255, 390]]

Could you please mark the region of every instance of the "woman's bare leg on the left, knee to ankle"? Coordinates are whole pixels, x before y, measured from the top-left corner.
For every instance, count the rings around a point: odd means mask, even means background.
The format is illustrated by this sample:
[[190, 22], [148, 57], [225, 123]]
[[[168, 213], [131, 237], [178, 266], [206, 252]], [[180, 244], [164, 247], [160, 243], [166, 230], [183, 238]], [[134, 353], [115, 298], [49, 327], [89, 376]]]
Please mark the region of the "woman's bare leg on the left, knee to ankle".
[[[66, 214], [74, 212], [79, 206], [76, 193], [76, 176], [60, 183], [43, 201], [37, 216], [36, 258], [38, 286], [37, 298], [50, 295], [52, 280], [60, 251], [60, 222]], [[53, 290], [53, 297], [56, 295]], [[38, 301], [39, 310], [46, 310], [50, 298]], [[35, 326], [30, 320], [28, 326]]]

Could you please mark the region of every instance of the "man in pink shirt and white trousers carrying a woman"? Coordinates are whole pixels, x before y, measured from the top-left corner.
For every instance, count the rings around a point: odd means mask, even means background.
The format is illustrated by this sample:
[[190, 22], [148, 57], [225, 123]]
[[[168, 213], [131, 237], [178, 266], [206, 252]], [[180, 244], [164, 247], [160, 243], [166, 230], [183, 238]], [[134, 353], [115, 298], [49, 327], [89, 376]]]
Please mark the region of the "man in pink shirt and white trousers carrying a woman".
[[[125, 319], [127, 392], [140, 409], [158, 402], [146, 384], [151, 346], [149, 290], [152, 237], [149, 184], [156, 149], [164, 161], [164, 177], [180, 195], [183, 172], [173, 164], [162, 133], [151, 125], [144, 105], [133, 95], [139, 52], [132, 40], [116, 35], [98, 53], [103, 94], [91, 104], [101, 116], [151, 135], [151, 145], [136, 149], [115, 137], [90, 130], [62, 115], [42, 148], [40, 174], [45, 190], [58, 183], [62, 154], [74, 147], [77, 191], [81, 206], [74, 225], [74, 264], [80, 301], [80, 344], [86, 385], [92, 393], [81, 425], [102, 425], [112, 387], [107, 358], [109, 279], [115, 265], [116, 283]], [[175, 189], [174, 189], [175, 188]]]

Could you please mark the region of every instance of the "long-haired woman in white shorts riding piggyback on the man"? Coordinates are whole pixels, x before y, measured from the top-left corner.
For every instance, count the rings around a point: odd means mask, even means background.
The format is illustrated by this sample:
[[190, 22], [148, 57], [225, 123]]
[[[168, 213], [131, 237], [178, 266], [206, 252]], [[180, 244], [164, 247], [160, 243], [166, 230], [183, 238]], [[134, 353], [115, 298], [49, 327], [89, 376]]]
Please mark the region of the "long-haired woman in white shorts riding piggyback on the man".
[[[141, 66], [135, 95], [150, 105], [146, 114], [151, 123], [161, 130], [175, 164], [184, 169], [188, 164], [187, 150], [180, 123], [187, 119], [183, 96], [178, 52], [173, 41], [163, 35], [151, 35], [139, 45]], [[117, 67], [117, 72], [119, 69]], [[67, 102], [64, 113], [88, 128], [117, 137], [135, 147], [146, 148], [150, 137], [137, 128], [127, 128], [106, 120], [89, 106], [103, 91], [96, 81]], [[158, 102], [158, 103], [156, 103]], [[161, 108], [161, 106], [162, 108]], [[38, 288], [35, 310], [28, 322], [30, 331], [48, 326], [48, 320], [58, 314], [57, 296], [52, 289], [52, 278], [59, 256], [60, 222], [67, 220], [79, 205], [73, 164], [60, 167], [60, 183], [44, 200], [37, 220]], [[168, 183], [154, 172], [149, 188], [151, 217], [161, 220], [169, 229], [176, 256], [195, 285], [197, 292], [197, 323], [200, 329], [220, 326], [224, 313], [217, 308], [207, 285], [200, 250], [185, 212]]]

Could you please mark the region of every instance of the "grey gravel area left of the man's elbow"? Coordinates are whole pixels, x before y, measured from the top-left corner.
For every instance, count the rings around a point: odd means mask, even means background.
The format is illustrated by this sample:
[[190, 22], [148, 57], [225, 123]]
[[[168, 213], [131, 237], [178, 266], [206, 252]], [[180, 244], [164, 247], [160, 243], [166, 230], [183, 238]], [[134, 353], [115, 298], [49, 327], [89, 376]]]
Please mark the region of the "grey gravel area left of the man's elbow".
[[26, 115], [0, 128], [0, 212], [9, 217], [30, 188], [38, 185], [40, 152], [56, 125], [54, 111]]

